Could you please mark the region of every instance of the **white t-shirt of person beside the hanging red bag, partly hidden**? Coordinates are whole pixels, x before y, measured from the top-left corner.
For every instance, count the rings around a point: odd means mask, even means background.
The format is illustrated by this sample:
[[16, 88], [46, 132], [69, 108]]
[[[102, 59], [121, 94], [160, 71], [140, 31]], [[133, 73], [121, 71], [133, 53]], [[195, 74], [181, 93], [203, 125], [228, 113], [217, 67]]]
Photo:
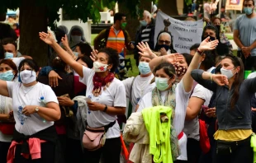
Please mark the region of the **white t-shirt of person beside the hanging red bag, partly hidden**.
[[[204, 100], [205, 101], [204, 105], [208, 106], [210, 103], [210, 100], [211, 100], [212, 91], [207, 90], [205, 87], [201, 86], [200, 84], [197, 84], [197, 86], [195, 87], [193, 94], [191, 96]], [[186, 121], [183, 131], [184, 131], [184, 133], [186, 133], [187, 137], [193, 138], [193, 139], [199, 141], [200, 136], [199, 136], [198, 117], [195, 119], [192, 119], [190, 121]]]

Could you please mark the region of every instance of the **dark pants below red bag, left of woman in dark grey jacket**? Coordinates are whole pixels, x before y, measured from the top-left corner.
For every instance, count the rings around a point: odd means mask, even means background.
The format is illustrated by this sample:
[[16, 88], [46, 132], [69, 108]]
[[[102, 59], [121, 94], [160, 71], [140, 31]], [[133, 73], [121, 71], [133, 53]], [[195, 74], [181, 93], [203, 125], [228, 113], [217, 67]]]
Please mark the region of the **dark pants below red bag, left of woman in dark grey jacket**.
[[193, 138], [187, 138], [187, 162], [197, 163], [199, 161], [200, 155], [200, 142]]

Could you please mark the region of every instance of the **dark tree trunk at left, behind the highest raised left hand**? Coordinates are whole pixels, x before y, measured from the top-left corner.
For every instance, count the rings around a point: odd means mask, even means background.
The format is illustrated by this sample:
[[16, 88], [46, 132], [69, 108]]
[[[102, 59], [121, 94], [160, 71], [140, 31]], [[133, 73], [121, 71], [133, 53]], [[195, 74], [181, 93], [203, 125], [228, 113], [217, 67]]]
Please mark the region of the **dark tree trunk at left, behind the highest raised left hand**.
[[40, 31], [47, 31], [47, 8], [35, 0], [21, 0], [20, 7], [20, 51], [30, 55], [40, 66], [47, 63], [47, 44], [39, 39]]

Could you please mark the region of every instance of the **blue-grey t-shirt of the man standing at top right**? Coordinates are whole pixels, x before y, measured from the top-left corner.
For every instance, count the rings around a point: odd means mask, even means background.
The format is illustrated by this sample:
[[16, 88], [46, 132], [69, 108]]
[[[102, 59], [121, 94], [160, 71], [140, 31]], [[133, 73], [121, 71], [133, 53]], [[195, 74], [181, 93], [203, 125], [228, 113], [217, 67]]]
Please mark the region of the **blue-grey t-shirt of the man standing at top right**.
[[[242, 44], [246, 47], [250, 46], [256, 40], [256, 17], [248, 18], [245, 14], [239, 16], [235, 21], [234, 30], [239, 30]], [[256, 56], [256, 49], [251, 51], [251, 55]]]

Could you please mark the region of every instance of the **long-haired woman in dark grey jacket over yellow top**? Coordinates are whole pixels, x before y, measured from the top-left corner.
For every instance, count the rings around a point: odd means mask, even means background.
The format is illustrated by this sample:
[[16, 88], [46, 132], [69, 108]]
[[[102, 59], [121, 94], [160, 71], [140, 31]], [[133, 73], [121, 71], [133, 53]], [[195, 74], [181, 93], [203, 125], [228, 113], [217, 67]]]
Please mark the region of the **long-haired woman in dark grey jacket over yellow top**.
[[201, 86], [216, 92], [216, 161], [253, 162], [251, 147], [251, 98], [256, 91], [256, 78], [244, 80], [244, 64], [240, 58], [226, 55], [221, 61], [221, 74], [192, 71]]

